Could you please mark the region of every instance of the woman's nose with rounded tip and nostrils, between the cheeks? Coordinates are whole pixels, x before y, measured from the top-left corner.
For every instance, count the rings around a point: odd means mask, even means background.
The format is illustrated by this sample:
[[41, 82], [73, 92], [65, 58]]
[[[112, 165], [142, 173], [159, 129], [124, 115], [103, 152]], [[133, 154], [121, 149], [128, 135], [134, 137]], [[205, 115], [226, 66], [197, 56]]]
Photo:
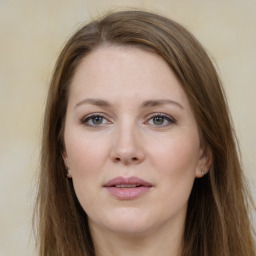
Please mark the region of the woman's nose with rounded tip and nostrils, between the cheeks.
[[139, 164], [144, 161], [145, 153], [138, 128], [133, 126], [117, 128], [114, 132], [110, 157], [113, 162], [124, 165]]

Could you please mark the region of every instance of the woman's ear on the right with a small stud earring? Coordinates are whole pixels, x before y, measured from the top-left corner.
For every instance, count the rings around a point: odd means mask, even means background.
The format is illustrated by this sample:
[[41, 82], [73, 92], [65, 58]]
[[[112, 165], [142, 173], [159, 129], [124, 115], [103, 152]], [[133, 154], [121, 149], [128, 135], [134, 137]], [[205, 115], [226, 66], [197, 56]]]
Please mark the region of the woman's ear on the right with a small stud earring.
[[212, 149], [208, 144], [204, 143], [199, 149], [198, 162], [195, 173], [196, 178], [202, 178], [206, 173], [208, 173], [212, 162]]

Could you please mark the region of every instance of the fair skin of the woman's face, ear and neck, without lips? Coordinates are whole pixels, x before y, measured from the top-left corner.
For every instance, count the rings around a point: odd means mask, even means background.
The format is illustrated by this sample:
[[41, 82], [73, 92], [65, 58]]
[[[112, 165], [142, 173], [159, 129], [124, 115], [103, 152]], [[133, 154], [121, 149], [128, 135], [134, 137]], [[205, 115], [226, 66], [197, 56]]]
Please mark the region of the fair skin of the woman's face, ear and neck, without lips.
[[[93, 113], [102, 117], [88, 117]], [[180, 255], [192, 185], [211, 156], [180, 82], [160, 56], [117, 46], [87, 55], [71, 83], [64, 142], [97, 256]], [[117, 176], [153, 187], [120, 200], [104, 187]]]

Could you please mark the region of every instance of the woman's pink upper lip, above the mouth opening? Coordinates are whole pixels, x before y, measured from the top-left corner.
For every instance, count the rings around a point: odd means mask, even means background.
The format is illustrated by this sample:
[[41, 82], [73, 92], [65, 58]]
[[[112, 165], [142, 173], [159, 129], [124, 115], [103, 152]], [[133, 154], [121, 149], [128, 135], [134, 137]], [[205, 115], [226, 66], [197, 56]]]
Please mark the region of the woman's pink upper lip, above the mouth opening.
[[144, 187], [152, 187], [153, 185], [143, 179], [138, 177], [116, 177], [109, 180], [107, 183], [104, 184], [104, 187], [114, 187], [116, 185], [136, 185], [136, 186], [144, 186]]

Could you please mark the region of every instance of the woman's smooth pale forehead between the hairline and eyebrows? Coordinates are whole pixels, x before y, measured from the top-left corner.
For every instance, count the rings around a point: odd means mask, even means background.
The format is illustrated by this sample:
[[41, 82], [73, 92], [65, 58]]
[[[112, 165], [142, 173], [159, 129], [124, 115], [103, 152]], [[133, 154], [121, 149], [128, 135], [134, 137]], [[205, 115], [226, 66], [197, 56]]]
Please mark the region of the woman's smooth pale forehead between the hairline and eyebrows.
[[70, 97], [109, 100], [175, 98], [187, 102], [181, 83], [159, 55], [135, 47], [102, 47], [85, 56], [74, 74]]

